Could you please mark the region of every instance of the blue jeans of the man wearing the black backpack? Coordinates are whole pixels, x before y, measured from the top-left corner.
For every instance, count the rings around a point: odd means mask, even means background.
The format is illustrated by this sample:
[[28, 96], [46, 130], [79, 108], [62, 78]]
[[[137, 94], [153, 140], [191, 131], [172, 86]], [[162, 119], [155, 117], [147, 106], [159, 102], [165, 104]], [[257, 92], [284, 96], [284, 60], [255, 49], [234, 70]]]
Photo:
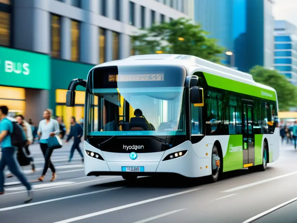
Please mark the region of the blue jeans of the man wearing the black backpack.
[[31, 184], [28, 182], [26, 177], [20, 171], [20, 165], [16, 159], [16, 151], [15, 147], [6, 147], [2, 148], [2, 157], [0, 160], [0, 191], [4, 191], [4, 169], [6, 165], [8, 166], [10, 172], [15, 175], [20, 182], [27, 188], [27, 190], [31, 190]]

